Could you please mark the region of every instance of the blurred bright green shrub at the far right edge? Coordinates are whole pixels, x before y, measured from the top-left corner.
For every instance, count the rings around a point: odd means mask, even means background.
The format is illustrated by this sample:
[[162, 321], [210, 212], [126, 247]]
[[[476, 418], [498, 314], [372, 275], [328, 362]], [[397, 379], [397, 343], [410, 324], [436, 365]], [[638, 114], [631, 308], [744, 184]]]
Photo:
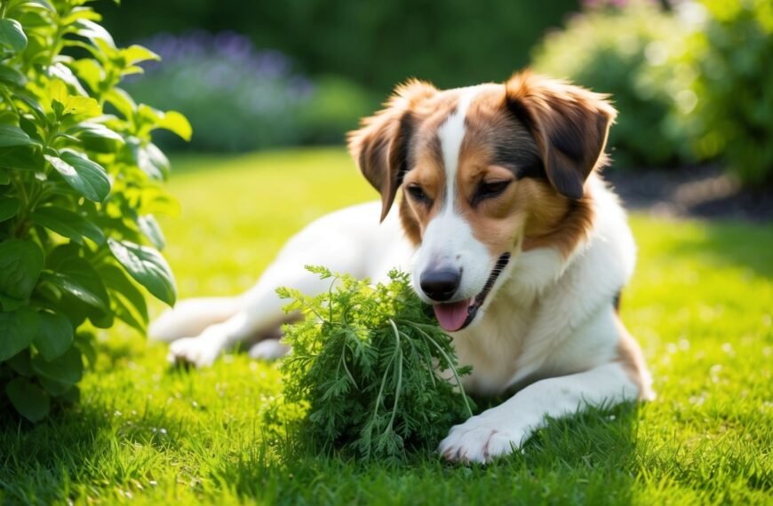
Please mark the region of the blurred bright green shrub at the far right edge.
[[749, 186], [773, 185], [773, 4], [703, 0], [703, 23], [675, 67], [691, 77], [676, 111], [700, 159], [720, 158]]

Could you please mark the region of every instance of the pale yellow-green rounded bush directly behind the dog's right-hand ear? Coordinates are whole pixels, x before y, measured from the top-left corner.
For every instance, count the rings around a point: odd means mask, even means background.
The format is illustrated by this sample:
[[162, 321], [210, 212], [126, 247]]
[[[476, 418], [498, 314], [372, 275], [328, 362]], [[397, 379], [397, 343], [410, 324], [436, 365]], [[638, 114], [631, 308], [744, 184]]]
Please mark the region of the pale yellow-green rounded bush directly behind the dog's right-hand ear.
[[681, 20], [654, 2], [591, 8], [548, 33], [533, 51], [533, 66], [610, 93], [620, 112], [610, 130], [615, 166], [662, 167], [680, 161], [686, 142], [670, 115], [679, 83], [668, 67], [685, 33]]

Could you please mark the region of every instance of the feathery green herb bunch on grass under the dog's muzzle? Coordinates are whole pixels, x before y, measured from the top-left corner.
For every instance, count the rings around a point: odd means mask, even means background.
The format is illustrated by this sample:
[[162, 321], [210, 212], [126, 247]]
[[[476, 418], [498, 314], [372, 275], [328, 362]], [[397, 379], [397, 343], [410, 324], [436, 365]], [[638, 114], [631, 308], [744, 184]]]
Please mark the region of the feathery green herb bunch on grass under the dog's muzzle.
[[292, 351], [281, 370], [285, 401], [307, 407], [298, 430], [309, 447], [404, 460], [434, 449], [451, 425], [473, 414], [459, 383], [472, 369], [457, 367], [450, 336], [427, 314], [408, 274], [392, 271], [391, 281], [372, 286], [307, 269], [330, 279], [330, 290], [278, 292], [293, 299], [285, 311], [306, 317], [284, 328]]

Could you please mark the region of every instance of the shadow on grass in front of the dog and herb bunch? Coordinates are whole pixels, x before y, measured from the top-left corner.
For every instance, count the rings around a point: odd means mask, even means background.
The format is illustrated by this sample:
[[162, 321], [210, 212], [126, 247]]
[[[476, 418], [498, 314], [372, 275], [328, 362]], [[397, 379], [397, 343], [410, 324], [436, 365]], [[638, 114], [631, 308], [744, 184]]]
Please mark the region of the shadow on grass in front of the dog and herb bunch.
[[638, 406], [554, 420], [522, 451], [490, 465], [445, 463], [432, 453], [409, 463], [287, 458], [259, 445], [211, 471], [241, 499], [268, 503], [632, 502]]

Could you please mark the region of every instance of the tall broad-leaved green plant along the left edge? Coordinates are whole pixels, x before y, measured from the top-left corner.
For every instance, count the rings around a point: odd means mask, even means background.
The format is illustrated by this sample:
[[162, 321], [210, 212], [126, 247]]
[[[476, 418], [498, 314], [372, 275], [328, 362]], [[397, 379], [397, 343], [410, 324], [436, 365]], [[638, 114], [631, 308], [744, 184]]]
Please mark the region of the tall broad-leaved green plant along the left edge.
[[117, 48], [85, 3], [0, 2], [0, 411], [33, 422], [77, 398], [89, 327], [144, 331], [138, 283], [176, 296], [154, 217], [174, 209], [169, 162], [151, 131], [190, 126], [118, 87], [157, 57]]

